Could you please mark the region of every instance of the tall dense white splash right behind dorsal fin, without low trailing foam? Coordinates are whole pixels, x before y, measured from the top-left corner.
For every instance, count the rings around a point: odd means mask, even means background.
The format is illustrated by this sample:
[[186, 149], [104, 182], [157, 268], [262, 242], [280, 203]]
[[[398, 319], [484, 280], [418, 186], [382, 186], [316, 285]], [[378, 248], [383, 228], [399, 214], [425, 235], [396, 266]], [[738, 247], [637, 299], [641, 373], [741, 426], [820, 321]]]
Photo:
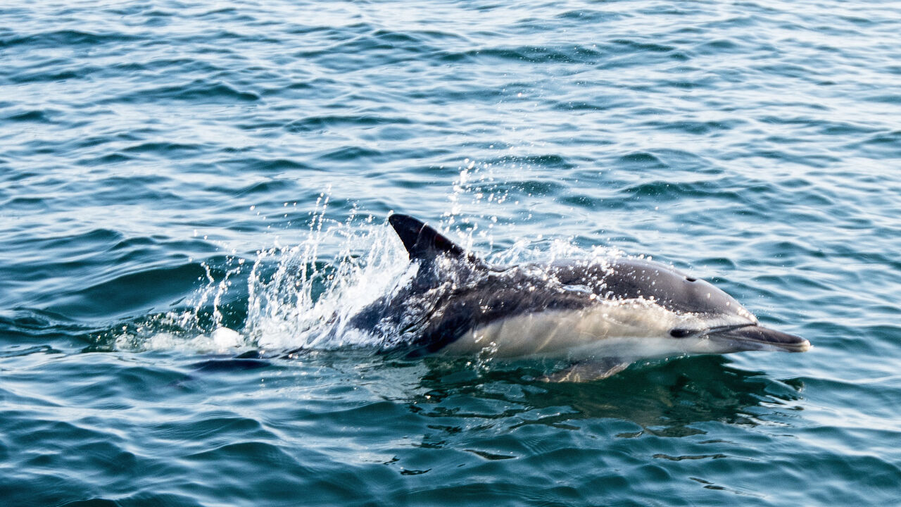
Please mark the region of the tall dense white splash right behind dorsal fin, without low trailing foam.
[[[323, 244], [336, 242], [339, 253], [323, 260]], [[262, 272], [269, 261], [278, 267], [266, 277]], [[320, 216], [300, 244], [258, 253], [243, 332], [269, 349], [378, 346], [378, 338], [344, 323], [403, 285], [411, 268], [396, 235], [373, 217], [362, 224], [350, 217], [323, 228]]]

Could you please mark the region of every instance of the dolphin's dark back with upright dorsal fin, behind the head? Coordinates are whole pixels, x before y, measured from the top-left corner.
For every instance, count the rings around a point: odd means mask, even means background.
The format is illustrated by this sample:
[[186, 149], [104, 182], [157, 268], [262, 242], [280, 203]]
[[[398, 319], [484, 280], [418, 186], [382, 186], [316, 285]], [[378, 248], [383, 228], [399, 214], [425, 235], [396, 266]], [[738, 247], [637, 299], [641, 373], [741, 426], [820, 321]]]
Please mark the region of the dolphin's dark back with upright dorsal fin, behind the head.
[[387, 338], [409, 355], [441, 350], [472, 329], [547, 309], [581, 309], [588, 292], [567, 290], [534, 266], [497, 270], [414, 217], [388, 217], [410, 260], [412, 281], [350, 318], [349, 325]]

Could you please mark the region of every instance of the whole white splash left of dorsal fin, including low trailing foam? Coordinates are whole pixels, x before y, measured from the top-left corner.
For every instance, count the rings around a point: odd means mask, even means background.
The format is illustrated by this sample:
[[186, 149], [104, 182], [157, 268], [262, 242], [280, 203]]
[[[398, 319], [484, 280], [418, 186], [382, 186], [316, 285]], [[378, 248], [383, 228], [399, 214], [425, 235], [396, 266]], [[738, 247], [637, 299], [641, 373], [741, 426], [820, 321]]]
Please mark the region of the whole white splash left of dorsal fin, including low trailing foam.
[[[326, 193], [297, 244], [234, 253], [201, 263], [201, 285], [178, 309], [138, 318], [97, 338], [119, 350], [184, 349], [234, 353], [380, 345], [344, 323], [412, 277], [403, 244], [384, 222], [354, 210], [328, 217]], [[332, 254], [330, 254], [332, 253]]]

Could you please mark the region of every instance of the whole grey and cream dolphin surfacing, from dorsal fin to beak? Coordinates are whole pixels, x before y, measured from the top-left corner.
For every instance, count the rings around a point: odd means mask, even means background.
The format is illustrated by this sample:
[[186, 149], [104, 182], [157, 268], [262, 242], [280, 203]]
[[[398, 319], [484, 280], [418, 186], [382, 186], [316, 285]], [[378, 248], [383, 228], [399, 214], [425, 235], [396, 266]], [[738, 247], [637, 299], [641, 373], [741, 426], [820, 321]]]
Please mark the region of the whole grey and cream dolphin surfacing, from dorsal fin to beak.
[[388, 222], [418, 264], [412, 281], [350, 318], [409, 355], [564, 359], [548, 380], [604, 378], [633, 361], [745, 350], [804, 352], [706, 281], [644, 259], [497, 268], [420, 220]]

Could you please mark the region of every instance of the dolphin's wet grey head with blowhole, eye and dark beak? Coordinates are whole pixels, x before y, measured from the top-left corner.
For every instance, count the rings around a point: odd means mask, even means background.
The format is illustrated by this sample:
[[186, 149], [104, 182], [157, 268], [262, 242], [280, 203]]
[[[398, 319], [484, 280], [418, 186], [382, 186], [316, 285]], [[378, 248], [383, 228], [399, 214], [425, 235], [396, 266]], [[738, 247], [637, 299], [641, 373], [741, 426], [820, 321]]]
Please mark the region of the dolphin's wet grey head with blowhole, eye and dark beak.
[[656, 337], [674, 351], [726, 354], [746, 350], [805, 352], [810, 348], [810, 342], [800, 336], [760, 326], [750, 311], [713, 284], [664, 264], [619, 258], [558, 264], [553, 272], [564, 286], [596, 293], [598, 304], [643, 301], [647, 311], [653, 312], [649, 319], [655, 321]]

